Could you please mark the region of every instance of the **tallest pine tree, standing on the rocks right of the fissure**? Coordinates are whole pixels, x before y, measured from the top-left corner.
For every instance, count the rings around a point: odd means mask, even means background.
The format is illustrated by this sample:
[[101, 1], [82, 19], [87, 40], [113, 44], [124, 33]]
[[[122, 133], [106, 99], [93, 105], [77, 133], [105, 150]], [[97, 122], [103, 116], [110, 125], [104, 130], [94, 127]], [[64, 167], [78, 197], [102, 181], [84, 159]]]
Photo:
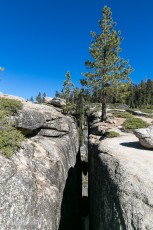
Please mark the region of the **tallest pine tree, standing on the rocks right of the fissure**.
[[101, 121], [105, 121], [108, 92], [111, 92], [112, 96], [119, 97], [122, 91], [124, 95], [129, 87], [129, 74], [132, 69], [128, 62], [119, 56], [122, 38], [120, 31], [114, 29], [116, 23], [113, 22], [109, 7], [103, 8], [102, 16], [102, 20], [99, 21], [101, 33], [91, 32], [93, 41], [89, 51], [92, 61], [85, 62], [86, 67], [90, 69], [85, 77], [87, 86], [92, 88], [93, 92], [99, 87], [102, 104]]

